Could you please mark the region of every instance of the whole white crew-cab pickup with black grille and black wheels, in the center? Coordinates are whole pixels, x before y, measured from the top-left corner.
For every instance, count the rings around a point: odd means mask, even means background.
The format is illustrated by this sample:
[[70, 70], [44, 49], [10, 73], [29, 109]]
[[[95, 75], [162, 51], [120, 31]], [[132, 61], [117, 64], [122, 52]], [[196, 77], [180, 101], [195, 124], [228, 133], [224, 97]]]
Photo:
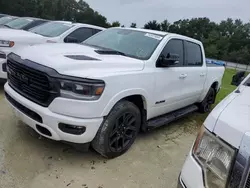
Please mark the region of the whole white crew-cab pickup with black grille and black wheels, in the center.
[[224, 67], [206, 67], [201, 42], [160, 31], [111, 28], [82, 44], [43, 44], [8, 56], [6, 98], [39, 134], [91, 143], [105, 157], [147, 131], [207, 112]]

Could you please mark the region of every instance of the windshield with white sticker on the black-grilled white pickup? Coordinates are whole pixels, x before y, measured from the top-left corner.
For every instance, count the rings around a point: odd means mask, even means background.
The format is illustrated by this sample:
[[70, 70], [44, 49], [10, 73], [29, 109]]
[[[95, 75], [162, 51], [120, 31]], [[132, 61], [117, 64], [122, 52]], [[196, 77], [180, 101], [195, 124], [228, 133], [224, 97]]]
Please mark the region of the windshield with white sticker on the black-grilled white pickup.
[[126, 56], [147, 60], [162, 40], [162, 35], [114, 28], [102, 31], [87, 39], [83, 44], [115, 50]]

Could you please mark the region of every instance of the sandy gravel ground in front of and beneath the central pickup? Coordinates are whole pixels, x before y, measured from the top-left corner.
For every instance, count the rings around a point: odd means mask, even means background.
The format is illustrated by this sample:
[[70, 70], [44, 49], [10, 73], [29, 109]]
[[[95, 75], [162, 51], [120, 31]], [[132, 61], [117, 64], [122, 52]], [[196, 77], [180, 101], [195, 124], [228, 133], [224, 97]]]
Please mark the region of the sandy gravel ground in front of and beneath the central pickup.
[[35, 134], [14, 117], [0, 86], [0, 187], [175, 188], [196, 132], [196, 121], [182, 119], [106, 160]]

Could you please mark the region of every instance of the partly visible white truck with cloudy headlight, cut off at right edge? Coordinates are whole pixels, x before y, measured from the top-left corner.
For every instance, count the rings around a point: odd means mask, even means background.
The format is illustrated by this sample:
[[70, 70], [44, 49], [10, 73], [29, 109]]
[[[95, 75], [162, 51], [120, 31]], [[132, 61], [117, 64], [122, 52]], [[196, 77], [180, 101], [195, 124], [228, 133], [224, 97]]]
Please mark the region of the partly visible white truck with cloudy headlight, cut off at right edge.
[[180, 188], [249, 187], [249, 96], [250, 75], [209, 114], [181, 171]]

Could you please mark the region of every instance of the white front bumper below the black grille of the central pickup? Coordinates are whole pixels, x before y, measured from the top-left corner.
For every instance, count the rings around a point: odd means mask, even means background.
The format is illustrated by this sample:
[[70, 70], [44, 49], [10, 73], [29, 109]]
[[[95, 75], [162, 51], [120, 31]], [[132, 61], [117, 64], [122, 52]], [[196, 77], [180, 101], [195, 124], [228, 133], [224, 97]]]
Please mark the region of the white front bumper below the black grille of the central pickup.
[[[42, 123], [36, 121], [34, 118], [31, 118], [27, 114], [23, 113], [23, 111], [20, 110], [17, 106], [11, 103], [7, 97], [7, 101], [13, 108], [13, 111], [17, 117], [21, 119], [25, 124], [29, 125], [31, 128], [33, 128], [36, 132], [39, 134], [53, 140], [58, 141], [67, 141], [71, 143], [89, 143], [91, 142], [99, 127], [101, 126], [103, 122], [103, 118], [78, 118], [78, 117], [72, 117], [72, 116], [66, 116], [61, 115], [55, 112], [52, 112], [49, 108], [42, 107], [25, 97], [18, 94], [16, 91], [14, 91], [8, 83], [4, 86], [5, 92], [16, 102], [23, 105], [25, 108], [32, 110], [33, 112], [37, 113], [42, 118]], [[63, 108], [63, 106], [61, 106]], [[68, 106], [68, 108], [74, 108], [74, 103], [72, 106]], [[61, 129], [59, 129], [58, 124], [64, 123], [68, 125], [74, 125], [74, 126], [84, 126], [86, 128], [85, 132], [82, 135], [74, 135], [63, 132]], [[41, 131], [37, 129], [37, 125], [47, 129], [51, 136], [43, 134]]]

